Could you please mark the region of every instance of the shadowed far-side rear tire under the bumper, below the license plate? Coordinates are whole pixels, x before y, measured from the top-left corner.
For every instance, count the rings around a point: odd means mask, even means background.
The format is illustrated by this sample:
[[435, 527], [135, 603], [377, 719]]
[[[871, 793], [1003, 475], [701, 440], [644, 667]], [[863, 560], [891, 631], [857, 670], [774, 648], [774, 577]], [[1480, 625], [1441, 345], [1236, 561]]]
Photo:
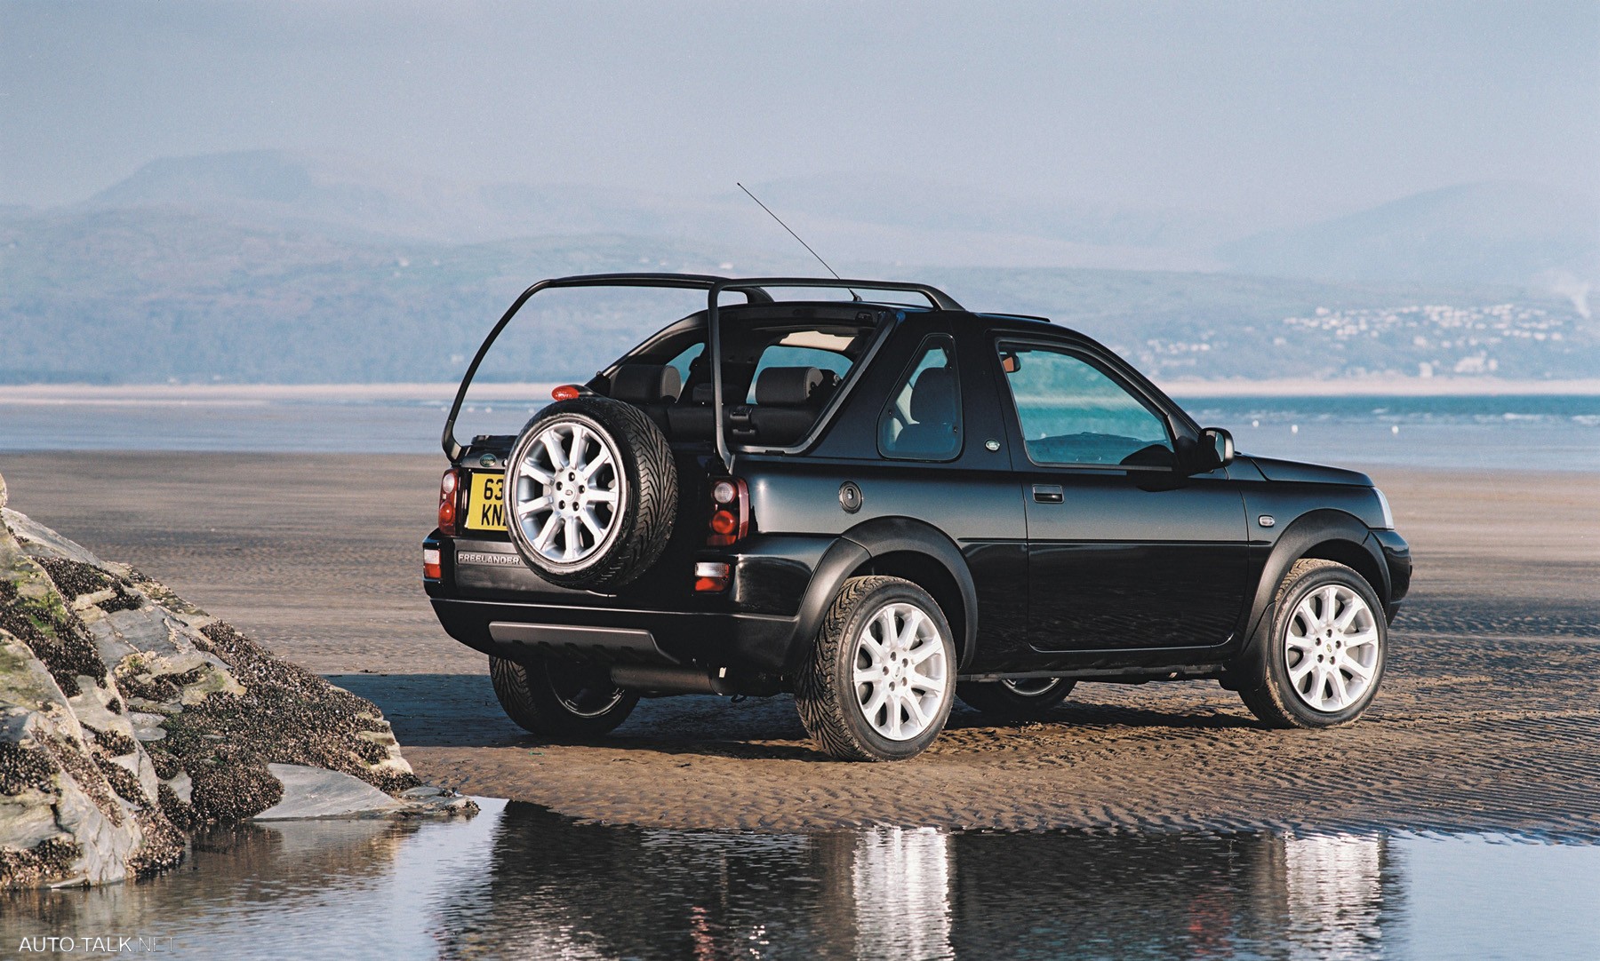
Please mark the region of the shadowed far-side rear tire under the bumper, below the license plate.
[[603, 667], [533, 656], [490, 657], [490, 683], [506, 716], [523, 731], [552, 737], [610, 734], [634, 713], [638, 694], [611, 684]]

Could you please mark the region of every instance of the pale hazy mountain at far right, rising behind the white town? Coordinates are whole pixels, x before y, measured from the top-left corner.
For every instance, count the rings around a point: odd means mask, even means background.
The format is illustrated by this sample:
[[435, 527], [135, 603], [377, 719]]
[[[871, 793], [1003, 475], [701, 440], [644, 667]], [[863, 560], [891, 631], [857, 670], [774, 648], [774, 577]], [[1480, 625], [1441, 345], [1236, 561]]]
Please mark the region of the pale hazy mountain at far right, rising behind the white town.
[[1600, 201], [1533, 184], [1466, 184], [1224, 245], [1232, 269], [1277, 277], [1530, 283], [1600, 277]]

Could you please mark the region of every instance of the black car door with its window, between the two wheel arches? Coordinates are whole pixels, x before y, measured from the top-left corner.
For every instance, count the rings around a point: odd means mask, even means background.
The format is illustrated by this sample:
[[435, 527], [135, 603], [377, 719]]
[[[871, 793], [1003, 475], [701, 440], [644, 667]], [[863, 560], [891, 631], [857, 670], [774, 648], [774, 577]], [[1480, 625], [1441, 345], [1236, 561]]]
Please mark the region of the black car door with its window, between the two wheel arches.
[[1208, 648], [1248, 584], [1245, 504], [1226, 470], [1179, 470], [1174, 424], [1091, 349], [997, 341], [1027, 512], [1035, 651]]

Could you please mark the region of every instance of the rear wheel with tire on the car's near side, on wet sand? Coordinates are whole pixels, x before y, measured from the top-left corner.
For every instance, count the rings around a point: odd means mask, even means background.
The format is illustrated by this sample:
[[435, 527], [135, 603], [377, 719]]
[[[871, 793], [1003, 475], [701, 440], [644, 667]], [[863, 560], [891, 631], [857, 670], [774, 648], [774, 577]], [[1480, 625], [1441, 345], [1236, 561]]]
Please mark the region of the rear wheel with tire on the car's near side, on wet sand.
[[944, 729], [955, 699], [950, 624], [901, 577], [851, 577], [795, 683], [800, 723], [827, 755], [901, 761]]

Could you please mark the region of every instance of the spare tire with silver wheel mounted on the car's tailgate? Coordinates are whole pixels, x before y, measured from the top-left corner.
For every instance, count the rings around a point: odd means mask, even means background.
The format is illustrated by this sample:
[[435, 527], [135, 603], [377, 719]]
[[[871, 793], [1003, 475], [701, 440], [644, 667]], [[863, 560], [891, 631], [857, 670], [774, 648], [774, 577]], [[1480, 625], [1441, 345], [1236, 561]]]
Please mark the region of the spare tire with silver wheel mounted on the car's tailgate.
[[608, 397], [558, 400], [522, 429], [506, 467], [506, 528], [539, 577], [618, 588], [672, 537], [678, 472], [661, 429]]

